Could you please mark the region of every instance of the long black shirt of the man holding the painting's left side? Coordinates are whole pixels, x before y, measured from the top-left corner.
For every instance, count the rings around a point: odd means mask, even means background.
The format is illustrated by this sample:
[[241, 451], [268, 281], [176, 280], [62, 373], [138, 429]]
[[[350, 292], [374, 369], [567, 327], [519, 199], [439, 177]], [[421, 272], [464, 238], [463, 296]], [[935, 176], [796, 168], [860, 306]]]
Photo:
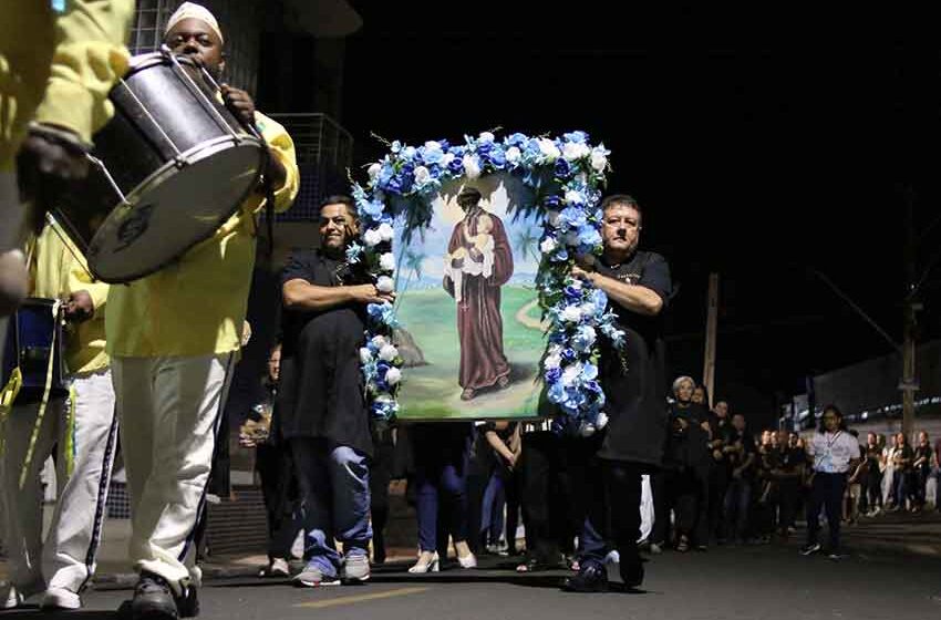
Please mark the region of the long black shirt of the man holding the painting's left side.
[[[321, 287], [359, 283], [345, 262], [316, 250], [291, 257], [281, 283], [296, 279]], [[285, 309], [278, 394], [285, 438], [322, 438], [372, 455], [359, 356], [364, 310], [362, 304]]]

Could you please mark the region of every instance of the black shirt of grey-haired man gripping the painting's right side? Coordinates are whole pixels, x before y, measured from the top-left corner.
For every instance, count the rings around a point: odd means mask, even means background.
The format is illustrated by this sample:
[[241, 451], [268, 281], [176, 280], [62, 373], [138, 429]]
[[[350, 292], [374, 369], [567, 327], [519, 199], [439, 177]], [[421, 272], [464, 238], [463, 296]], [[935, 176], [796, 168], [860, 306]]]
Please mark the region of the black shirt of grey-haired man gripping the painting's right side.
[[659, 466], [666, 433], [666, 352], [662, 316], [673, 291], [670, 267], [658, 254], [638, 251], [622, 265], [600, 261], [598, 272], [621, 282], [647, 287], [663, 299], [656, 317], [632, 312], [613, 300], [625, 333], [623, 361], [601, 340], [600, 378], [607, 396], [608, 432], [599, 456]]

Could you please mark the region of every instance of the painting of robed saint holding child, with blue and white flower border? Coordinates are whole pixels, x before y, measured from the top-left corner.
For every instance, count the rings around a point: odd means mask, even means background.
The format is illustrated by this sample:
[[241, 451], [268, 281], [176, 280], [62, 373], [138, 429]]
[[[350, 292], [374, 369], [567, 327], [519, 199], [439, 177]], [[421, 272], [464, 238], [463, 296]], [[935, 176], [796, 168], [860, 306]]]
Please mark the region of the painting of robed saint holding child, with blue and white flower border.
[[581, 132], [389, 148], [353, 185], [348, 252], [396, 293], [369, 307], [360, 351], [373, 415], [596, 420], [597, 340], [622, 334], [569, 270], [601, 251], [609, 152]]

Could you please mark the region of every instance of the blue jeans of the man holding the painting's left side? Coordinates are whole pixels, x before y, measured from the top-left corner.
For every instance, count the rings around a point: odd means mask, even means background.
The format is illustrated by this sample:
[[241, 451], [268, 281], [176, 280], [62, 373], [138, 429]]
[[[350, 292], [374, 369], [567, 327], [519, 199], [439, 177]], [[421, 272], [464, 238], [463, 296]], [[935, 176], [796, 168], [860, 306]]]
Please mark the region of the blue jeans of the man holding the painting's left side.
[[372, 527], [366, 456], [308, 437], [291, 440], [291, 451], [303, 498], [304, 559], [333, 577], [342, 560], [334, 538], [347, 556], [368, 555]]

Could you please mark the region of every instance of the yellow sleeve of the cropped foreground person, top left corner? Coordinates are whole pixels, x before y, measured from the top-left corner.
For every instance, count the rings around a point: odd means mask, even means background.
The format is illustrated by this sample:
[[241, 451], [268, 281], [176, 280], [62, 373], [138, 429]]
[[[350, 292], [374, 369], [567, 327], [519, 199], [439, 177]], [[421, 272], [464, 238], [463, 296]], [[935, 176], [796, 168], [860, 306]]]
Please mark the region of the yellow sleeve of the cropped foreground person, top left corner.
[[114, 110], [107, 93], [127, 71], [124, 46], [133, 0], [70, 0], [55, 20], [52, 74], [35, 120], [71, 130], [85, 141]]

